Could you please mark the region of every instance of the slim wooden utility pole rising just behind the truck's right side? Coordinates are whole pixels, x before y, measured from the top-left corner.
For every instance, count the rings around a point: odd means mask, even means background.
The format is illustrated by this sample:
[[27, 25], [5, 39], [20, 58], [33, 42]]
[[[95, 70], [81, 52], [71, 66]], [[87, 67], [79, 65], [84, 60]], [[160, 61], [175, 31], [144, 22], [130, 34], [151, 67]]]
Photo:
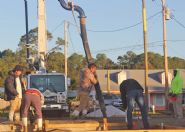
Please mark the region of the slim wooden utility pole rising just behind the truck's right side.
[[67, 77], [67, 46], [68, 46], [68, 22], [64, 21], [64, 56], [65, 56], [65, 75]]

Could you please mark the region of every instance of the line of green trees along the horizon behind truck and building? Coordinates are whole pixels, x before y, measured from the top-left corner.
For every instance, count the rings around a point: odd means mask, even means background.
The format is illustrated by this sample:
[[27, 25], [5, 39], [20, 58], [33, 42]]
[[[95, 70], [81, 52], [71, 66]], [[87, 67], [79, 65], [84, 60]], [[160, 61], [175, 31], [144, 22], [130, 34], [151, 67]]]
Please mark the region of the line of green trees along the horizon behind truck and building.
[[[33, 44], [30, 47], [30, 55], [37, 55], [37, 34], [38, 28], [29, 31], [29, 42]], [[48, 31], [48, 41], [52, 40], [53, 36]], [[64, 54], [61, 50], [64, 45], [64, 40], [57, 38], [56, 46], [52, 48], [46, 55], [46, 67], [48, 72], [56, 71], [64, 73]], [[0, 87], [4, 85], [4, 79], [8, 75], [8, 71], [13, 69], [16, 64], [24, 67], [24, 72], [28, 69], [26, 63], [26, 35], [21, 36], [18, 48], [16, 51], [6, 49], [0, 51]], [[104, 53], [96, 55], [94, 58], [98, 69], [144, 69], [144, 53], [136, 54], [133, 51], [127, 51], [126, 54], [117, 57], [117, 62], [114, 62]], [[178, 57], [168, 57], [170, 69], [185, 69], [185, 60]], [[71, 78], [71, 88], [76, 88], [79, 82], [79, 71], [86, 66], [86, 59], [83, 55], [73, 53], [68, 57], [68, 77]], [[148, 53], [149, 69], [164, 69], [164, 56], [149, 52]]]

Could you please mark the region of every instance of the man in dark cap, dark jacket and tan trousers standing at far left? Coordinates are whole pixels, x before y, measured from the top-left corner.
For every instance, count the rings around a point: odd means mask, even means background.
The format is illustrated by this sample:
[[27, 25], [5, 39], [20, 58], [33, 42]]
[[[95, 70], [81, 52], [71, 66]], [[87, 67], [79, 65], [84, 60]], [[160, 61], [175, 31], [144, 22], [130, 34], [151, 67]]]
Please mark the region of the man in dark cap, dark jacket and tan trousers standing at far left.
[[20, 107], [22, 102], [22, 93], [25, 90], [24, 83], [21, 79], [23, 68], [16, 65], [5, 80], [6, 101], [10, 101], [9, 120], [20, 120]]

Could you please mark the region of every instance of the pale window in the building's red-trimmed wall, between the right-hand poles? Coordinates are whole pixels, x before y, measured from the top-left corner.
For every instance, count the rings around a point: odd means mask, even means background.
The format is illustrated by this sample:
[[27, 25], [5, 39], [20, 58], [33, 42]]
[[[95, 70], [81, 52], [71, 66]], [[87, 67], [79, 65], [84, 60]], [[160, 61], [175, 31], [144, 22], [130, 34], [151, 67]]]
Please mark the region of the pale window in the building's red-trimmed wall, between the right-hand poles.
[[163, 94], [154, 95], [154, 105], [155, 106], [165, 106], [165, 98]]

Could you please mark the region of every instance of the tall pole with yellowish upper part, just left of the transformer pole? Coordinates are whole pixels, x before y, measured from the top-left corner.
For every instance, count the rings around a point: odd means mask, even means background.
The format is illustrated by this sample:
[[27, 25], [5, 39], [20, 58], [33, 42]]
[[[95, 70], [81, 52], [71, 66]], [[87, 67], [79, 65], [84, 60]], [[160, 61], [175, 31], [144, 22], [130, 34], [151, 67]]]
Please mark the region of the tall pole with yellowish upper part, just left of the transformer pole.
[[144, 54], [145, 54], [145, 101], [148, 102], [148, 50], [147, 50], [147, 24], [146, 24], [146, 3], [142, 0], [142, 14], [143, 14], [143, 39], [144, 39]]

